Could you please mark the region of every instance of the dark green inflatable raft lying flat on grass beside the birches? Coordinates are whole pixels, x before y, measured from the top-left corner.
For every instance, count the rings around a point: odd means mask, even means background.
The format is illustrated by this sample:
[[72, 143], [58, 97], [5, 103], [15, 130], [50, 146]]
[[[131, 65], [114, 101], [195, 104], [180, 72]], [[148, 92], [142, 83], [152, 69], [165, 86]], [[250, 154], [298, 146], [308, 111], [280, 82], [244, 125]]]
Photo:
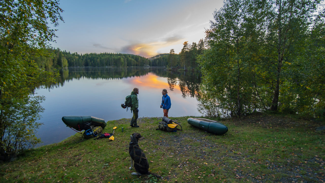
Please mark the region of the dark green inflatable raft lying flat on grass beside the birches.
[[190, 125], [217, 135], [225, 134], [228, 131], [227, 126], [214, 120], [204, 118], [188, 118], [187, 122]]

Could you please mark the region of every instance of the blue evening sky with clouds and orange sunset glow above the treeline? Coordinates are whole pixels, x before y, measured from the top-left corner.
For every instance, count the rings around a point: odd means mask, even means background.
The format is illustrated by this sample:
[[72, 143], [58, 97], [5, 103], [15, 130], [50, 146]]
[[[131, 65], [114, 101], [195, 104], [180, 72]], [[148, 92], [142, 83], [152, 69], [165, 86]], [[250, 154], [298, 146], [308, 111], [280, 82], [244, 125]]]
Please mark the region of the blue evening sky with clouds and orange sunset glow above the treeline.
[[198, 43], [223, 0], [61, 0], [64, 23], [52, 46], [72, 53], [146, 58]]

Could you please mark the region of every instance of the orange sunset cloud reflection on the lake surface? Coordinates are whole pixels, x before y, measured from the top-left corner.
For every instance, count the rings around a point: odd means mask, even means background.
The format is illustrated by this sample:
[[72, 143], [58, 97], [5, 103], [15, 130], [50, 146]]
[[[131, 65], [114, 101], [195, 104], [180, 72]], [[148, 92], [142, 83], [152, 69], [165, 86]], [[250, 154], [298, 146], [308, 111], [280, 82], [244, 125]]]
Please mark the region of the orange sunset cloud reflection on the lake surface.
[[[168, 89], [169, 85], [166, 80], [162, 77], [158, 77], [152, 73], [148, 73], [146, 76], [134, 77], [129, 80], [136, 88], [159, 88], [159, 89]], [[176, 90], [180, 90], [179, 86], [174, 87]]]

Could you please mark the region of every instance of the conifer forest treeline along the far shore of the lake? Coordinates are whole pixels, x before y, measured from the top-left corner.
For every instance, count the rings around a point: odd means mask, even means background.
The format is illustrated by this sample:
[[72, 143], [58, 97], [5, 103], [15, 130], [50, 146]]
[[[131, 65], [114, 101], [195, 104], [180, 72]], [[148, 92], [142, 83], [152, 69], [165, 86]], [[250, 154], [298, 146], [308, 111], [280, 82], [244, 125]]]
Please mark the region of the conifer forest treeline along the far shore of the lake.
[[195, 42], [188, 44], [184, 42], [183, 49], [179, 54], [175, 54], [174, 49], [170, 53], [159, 54], [149, 59], [132, 54], [123, 53], [70, 53], [66, 50], [46, 49], [52, 53], [52, 58], [38, 57], [36, 61], [39, 67], [50, 70], [52, 67], [143, 67], [143, 66], [161, 66], [169, 68], [196, 69], [198, 64], [196, 56], [201, 54], [204, 49], [203, 39], [197, 45]]

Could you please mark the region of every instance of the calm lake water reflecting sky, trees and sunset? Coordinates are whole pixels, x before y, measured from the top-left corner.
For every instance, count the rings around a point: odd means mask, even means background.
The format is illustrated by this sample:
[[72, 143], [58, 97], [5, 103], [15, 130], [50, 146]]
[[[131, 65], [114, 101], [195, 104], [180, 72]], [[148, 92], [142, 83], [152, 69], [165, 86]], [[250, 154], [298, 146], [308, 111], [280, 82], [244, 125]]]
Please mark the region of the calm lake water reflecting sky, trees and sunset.
[[[201, 116], [196, 94], [201, 82], [199, 73], [170, 72], [158, 68], [69, 68], [60, 71], [57, 84], [36, 90], [46, 100], [37, 135], [43, 143], [58, 143], [75, 134], [63, 116], [93, 116], [110, 120], [132, 118], [130, 110], [121, 107], [133, 88], [139, 88], [139, 118], [162, 117], [162, 89], [171, 98], [168, 116]], [[141, 120], [138, 120], [141, 128]], [[158, 126], [158, 124], [157, 124]]]

